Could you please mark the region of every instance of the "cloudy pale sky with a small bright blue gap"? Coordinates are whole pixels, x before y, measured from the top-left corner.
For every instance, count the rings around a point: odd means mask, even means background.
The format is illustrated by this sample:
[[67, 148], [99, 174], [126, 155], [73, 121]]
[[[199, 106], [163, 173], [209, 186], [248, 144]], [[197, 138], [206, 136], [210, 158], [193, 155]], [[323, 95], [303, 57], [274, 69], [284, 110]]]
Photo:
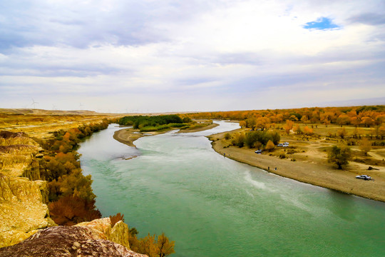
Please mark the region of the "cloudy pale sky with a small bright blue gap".
[[385, 104], [384, 0], [0, 0], [0, 108], [228, 111], [354, 99]]

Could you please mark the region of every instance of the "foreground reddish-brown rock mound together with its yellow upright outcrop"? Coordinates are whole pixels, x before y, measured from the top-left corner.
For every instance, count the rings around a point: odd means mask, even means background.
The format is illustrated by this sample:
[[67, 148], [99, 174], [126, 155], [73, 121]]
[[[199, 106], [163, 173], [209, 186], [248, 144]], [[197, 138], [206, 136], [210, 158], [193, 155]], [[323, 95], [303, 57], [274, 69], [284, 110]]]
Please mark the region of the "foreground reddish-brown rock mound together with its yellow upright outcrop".
[[0, 257], [11, 256], [146, 257], [129, 250], [128, 226], [119, 221], [111, 228], [110, 218], [43, 229], [21, 243], [0, 248]]

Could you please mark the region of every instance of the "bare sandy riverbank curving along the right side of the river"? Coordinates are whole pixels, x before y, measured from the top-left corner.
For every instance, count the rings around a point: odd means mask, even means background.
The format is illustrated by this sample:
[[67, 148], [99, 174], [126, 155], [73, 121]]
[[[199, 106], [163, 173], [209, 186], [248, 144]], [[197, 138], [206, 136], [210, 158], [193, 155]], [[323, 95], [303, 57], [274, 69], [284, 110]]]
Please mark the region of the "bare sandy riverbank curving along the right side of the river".
[[[262, 168], [271, 173], [297, 181], [309, 183], [314, 186], [322, 186], [343, 193], [353, 194], [376, 201], [385, 201], [385, 179], [382, 176], [373, 176], [359, 163], [350, 163], [347, 170], [338, 170], [326, 160], [314, 161], [290, 161], [288, 158], [281, 159], [277, 156], [267, 154], [256, 154], [250, 148], [238, 148], [228, 146], [223, 139], [225, 133], [210, 136], [212, 148], [235, 161], [247, 163], [257, 168]], [[277, 168], [277, 169], [275, 169]], [[361, 173], [369, 174], [375, 178], [374, 181], [356, 179]]]

